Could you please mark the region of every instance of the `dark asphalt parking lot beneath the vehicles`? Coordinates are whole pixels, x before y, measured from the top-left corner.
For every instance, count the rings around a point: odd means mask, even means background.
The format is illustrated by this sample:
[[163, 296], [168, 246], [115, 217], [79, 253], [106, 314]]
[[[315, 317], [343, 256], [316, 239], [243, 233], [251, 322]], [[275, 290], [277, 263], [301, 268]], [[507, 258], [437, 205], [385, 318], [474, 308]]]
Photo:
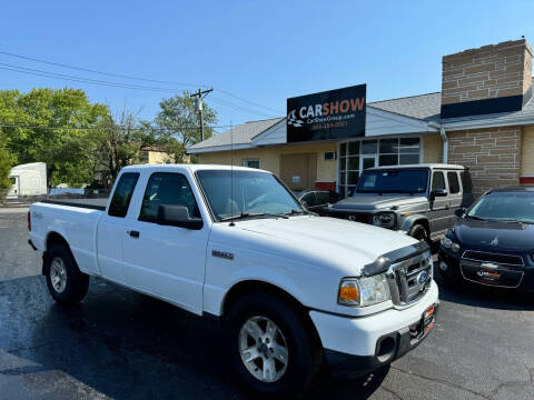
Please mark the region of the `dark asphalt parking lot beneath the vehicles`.
[[[247, 398], [214, 322], [99, 279], [79, 307], [57, 306], [26, 211], [0, 209], [0, 399]], [[307, 398], [534, 399], [534, 298], [441, 284], [416, 350], [363, 380], [323, 378]]]

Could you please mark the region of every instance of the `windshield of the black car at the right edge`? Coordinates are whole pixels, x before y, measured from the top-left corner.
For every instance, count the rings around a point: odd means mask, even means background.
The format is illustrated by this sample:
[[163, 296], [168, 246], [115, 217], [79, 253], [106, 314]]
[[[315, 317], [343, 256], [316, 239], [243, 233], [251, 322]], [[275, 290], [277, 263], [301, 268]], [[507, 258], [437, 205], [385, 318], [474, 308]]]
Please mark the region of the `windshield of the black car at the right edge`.
[[467, 217], [484, 221], [534, 223], [534, 192], [493, 192], [481, 199]]

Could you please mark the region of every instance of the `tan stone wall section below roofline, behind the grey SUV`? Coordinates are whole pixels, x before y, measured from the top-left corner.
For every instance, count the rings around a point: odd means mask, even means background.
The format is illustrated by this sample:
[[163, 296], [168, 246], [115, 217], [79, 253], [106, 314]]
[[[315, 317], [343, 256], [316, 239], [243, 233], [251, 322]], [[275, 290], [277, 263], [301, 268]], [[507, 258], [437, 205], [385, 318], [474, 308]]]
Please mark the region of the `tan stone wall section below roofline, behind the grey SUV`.
[[475, 196], [503, 186], [518, 184], [521, 127], [452, 131], [448, 162], [469, 168]]

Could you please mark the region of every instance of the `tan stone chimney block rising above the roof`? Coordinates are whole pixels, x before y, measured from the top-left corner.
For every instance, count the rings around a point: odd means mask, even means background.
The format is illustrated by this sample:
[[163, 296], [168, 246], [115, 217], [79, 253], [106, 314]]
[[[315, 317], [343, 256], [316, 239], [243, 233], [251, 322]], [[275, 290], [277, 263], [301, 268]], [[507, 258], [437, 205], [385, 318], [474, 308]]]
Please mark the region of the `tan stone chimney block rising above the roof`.
[[522, 96], [532, 83], [532, 49], [524, 40], [443, 58], [442, 104]]

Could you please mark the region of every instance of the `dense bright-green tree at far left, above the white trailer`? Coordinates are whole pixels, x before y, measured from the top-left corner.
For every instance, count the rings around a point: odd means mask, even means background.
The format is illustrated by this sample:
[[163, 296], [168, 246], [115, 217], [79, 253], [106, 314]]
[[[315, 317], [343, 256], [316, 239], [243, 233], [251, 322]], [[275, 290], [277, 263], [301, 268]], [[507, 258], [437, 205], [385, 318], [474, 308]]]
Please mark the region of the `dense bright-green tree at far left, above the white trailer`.
[[[79, 89], [0, 91], [0, 124], [17, 163], [46, 162], [49, 184], [79, 187], [92, 181], [98, 131], [109, 119], [105, 104]], [[61, 128], [61, 129], [50, 129]]]

